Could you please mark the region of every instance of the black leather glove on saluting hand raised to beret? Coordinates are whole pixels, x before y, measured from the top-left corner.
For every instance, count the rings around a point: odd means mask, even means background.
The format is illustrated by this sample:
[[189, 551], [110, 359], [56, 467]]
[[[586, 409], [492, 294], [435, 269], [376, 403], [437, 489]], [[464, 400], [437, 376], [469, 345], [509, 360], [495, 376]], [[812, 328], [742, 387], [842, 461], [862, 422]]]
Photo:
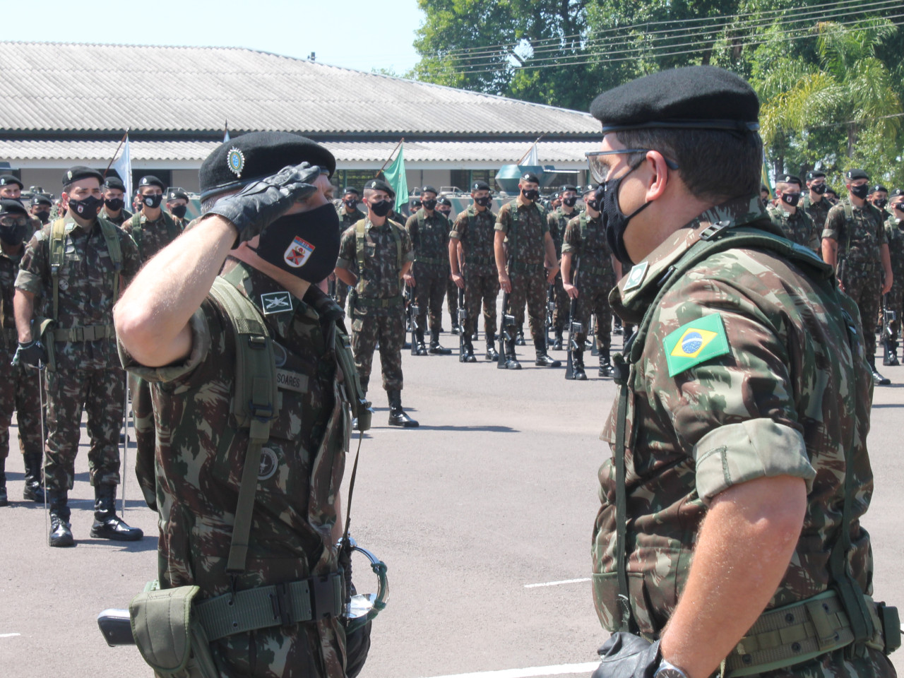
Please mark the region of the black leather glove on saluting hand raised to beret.
[[317, 189], [320, 167], [302, 163], [283, 167], [277, 174], [252, 182], [239, 193], [218, 201], [208, 214], [219, 214], [239, 230], [236, 245], [251, 240], [285, 214], [293, 202], [304, 200]]

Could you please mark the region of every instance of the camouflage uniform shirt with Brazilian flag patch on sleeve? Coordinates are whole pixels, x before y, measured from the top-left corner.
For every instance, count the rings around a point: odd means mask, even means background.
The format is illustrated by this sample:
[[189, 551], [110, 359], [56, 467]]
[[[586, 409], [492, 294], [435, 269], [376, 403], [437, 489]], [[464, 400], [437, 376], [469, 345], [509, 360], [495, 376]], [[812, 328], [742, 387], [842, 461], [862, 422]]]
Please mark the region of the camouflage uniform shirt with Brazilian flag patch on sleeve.
[[[767, 607], [828, 589], [829, 554], [842, 523], [845, 449], [854, 486], [849, 565], [862, 590], [871, 593], [870, 538], [860, 523], [872, 492], [866, 447], [871, 372], [859, 327], [847, 326], [858, 325], [856, 306], [837, 290], [831, 268], [803, 248], [796, 259], [734, 248], [711, 254], [670, 281], [653, 306], [665, 271], [680, 266], [711, 223], [729, 220], [780, 235], [759, 210], [753, 200], [703, 212], [622, 278], [610, 297], [628, 323], [640, 323], [649, 311], [643, 322], [651, 330], [628, 356], [625, 459], [628, 588], [640, 632], [650, 636], [673, 614], [713, 497], [759, 477], [800, 477], [808, 495], [796, 550]], [[852, 320], [845, 322], [844, 315]], [[707, 320], [723, 328], [724, 353], [689, 360], [670, 376], [665, 338], [684, 336]], [[679, 340], [671, 355], [683, 346]], [[687, 344], [683, 350], [693, 354], [698, 348]], [[602, 438], [614, 448], [616, 434], [617, 404]], [[598, 616], [612, 630], [621, 617], [613, 458], [600, 467], [599, 481], [593, 589]], [[799, 674], [849, 674], [843, 651], [824, 657], [816, 663], [821, 673]], [[881, 653], [871, 661], [890, 668]]]

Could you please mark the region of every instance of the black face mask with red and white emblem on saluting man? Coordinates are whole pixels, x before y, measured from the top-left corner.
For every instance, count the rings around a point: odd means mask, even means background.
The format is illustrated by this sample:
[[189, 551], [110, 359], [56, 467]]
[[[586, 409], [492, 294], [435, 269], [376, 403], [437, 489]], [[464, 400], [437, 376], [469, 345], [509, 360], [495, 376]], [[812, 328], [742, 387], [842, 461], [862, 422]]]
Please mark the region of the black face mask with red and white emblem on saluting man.
[[339, 238], [339, 215], [332, 204], [325, 204], [279, 217], [260, 234], [255, 251], [261, 259], [316, 284], [333, 272]]

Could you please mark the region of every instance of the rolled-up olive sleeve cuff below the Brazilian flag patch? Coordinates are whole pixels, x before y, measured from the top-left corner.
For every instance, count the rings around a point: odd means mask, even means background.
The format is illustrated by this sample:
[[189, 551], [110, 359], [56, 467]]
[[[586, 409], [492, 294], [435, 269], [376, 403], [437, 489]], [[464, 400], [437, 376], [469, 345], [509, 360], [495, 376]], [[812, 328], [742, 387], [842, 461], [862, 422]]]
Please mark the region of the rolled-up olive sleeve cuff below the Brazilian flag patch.
[[772, 419], [720, 426], [700, 439], [693, 456], [697, 494], [707, 505], [732, 485], [772, 476], [804, 478], [809, 494], [816, 476], [800, 431]]

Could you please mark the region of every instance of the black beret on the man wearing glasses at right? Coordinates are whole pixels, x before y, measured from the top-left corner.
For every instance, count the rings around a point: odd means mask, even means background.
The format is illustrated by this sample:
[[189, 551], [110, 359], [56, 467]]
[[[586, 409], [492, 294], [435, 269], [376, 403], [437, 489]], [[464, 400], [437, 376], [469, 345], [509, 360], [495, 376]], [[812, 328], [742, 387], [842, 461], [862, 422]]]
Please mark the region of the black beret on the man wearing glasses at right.
[[600, 94], [590, 114], [603, 134], [674, 127], [750, 132], [759, 128], [759, 99], [746, 80], [715, 66], [658, 71]]

